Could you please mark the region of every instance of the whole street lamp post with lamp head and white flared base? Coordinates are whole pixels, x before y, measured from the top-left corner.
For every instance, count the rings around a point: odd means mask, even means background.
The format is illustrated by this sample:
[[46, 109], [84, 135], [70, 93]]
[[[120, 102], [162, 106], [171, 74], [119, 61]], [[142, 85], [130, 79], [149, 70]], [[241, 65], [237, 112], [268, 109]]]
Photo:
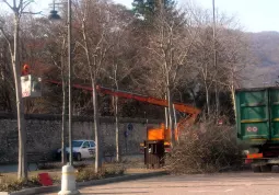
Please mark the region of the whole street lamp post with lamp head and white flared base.
[[[55, 0], [54, 0], [55, 4]], [[75, 176], [74, 176], [74, 169], [72, 163], [72, 83], [71, 83], [71, 77], [72, 77], [72, 47], [71, 47], [71, 0], [68, 0], [68, 68], [69, 68], [69, 77], [68, 77], [68, 87], [69, 87], [69, 164], [63, 165], [62, 168], [62, 181], [61, 181], [61, 191], [59, 192], [60, 195], [65, 194], [80, 194], [79, 191], [77, 191], [75, 186]], [[60, 16], [57, 14], [57, 11], [54, 10], [50, 11], [49, 15], [50, 20], [57, 20], [60, 19]]]

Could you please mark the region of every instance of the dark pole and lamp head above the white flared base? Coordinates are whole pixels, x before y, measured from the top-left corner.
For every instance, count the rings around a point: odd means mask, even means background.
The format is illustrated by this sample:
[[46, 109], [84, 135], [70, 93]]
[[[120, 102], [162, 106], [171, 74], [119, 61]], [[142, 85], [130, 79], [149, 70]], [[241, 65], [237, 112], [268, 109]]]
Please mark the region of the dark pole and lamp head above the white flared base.
[[[71, 83], [71, 77], [72, 77], [72, 47], [71, 47], [71, 19], [72, 19], [72, 11], [71, 11], [71, 0], [68, 0], [68, 68], [69, 68], [69, 74], [68, 74], [68, 90], [69, 90], [69, 101], [68, 101], [68, 107], [69, 107], [69, 164], [72, 165], [72, 83]], [[55, 10], [55, 0], [54, 0], [54, 10], [50, 11], [50, 15], [48, 16], [50, 20], [60, 20], [60, 15]]]

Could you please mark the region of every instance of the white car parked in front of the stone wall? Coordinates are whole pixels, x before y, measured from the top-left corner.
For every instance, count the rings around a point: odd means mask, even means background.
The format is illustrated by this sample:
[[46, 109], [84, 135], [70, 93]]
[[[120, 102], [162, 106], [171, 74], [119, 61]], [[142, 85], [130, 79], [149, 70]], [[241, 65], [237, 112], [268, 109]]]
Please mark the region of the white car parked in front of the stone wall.
[[[69, 157], [69, 151], [70, 148], [67, 147], [67, 157]], [[85, 139], [72, 140], [72, 154], [77, 161], [95, 157], [95, 141]], [[61, 159], [61, 148], [57, 150], [56, 157]]]

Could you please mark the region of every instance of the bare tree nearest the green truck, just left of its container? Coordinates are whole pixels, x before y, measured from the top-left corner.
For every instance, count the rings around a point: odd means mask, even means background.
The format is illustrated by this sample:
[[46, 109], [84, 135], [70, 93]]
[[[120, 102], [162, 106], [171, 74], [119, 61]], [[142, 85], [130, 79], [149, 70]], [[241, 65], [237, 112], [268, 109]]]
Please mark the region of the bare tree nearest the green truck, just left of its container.
[[235, 89], [241, 87], [245, 79], [244, 71], [248, 68], [248, 42], [247, 36], [237, 27], [234, 30], [219, 28], [219, 78], [217, 82], [224, 90], [230, 91], [232, 105], [235, 113]]

